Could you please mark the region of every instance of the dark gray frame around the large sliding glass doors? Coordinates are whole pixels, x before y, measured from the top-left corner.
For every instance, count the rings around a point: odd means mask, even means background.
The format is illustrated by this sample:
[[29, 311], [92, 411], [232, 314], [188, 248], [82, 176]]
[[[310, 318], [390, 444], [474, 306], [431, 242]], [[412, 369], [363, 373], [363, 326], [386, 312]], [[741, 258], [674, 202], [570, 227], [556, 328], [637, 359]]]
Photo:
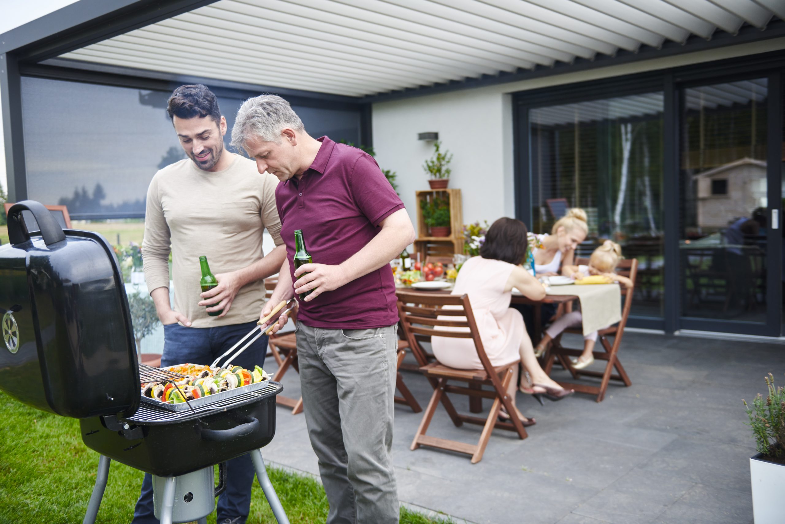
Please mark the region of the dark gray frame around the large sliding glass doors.
[[[514, 196], [516, 217], [531, 224], [532, 167], [529, 110], [558, 104], [573, 104], [625, 97], [633, 94], [663, 92], [663, 200], [678, 202], [680, 198], [681, 151], [680, 118], [681, 90], [685, 87], [743, 79], [768, 78], [769, 97], [767, 122], [767, 192], [769, 195], [769, 223], [772, 211], [780, 217], [782, 227], [781, 148], [783, 143], [783, 75], [785, 51], [736, 57], [681, 68], [646, 71], [635, 75], [617, 76], [563, 86], [513, 93]], [[775, 196], [775, 198], [771, 198]], [[727, 332], [746, 335], [780, 336], [782, 326], [782, 233], [769, 233], [767, 264], [766, 323], [728, 322], [713, 319], [681, 319], [679, 224], [681, 217], [669, 208], [663, 216], [664, 298], [663, 317], [636, 317], [630, 314], [628, 324], [633, 328], [648, 328], [674, 333], [680, 329], [708, 332]], [[769, 231], [772, 231], [769, 228]], [[779, 231], [779, 229], [774, 230]]]

